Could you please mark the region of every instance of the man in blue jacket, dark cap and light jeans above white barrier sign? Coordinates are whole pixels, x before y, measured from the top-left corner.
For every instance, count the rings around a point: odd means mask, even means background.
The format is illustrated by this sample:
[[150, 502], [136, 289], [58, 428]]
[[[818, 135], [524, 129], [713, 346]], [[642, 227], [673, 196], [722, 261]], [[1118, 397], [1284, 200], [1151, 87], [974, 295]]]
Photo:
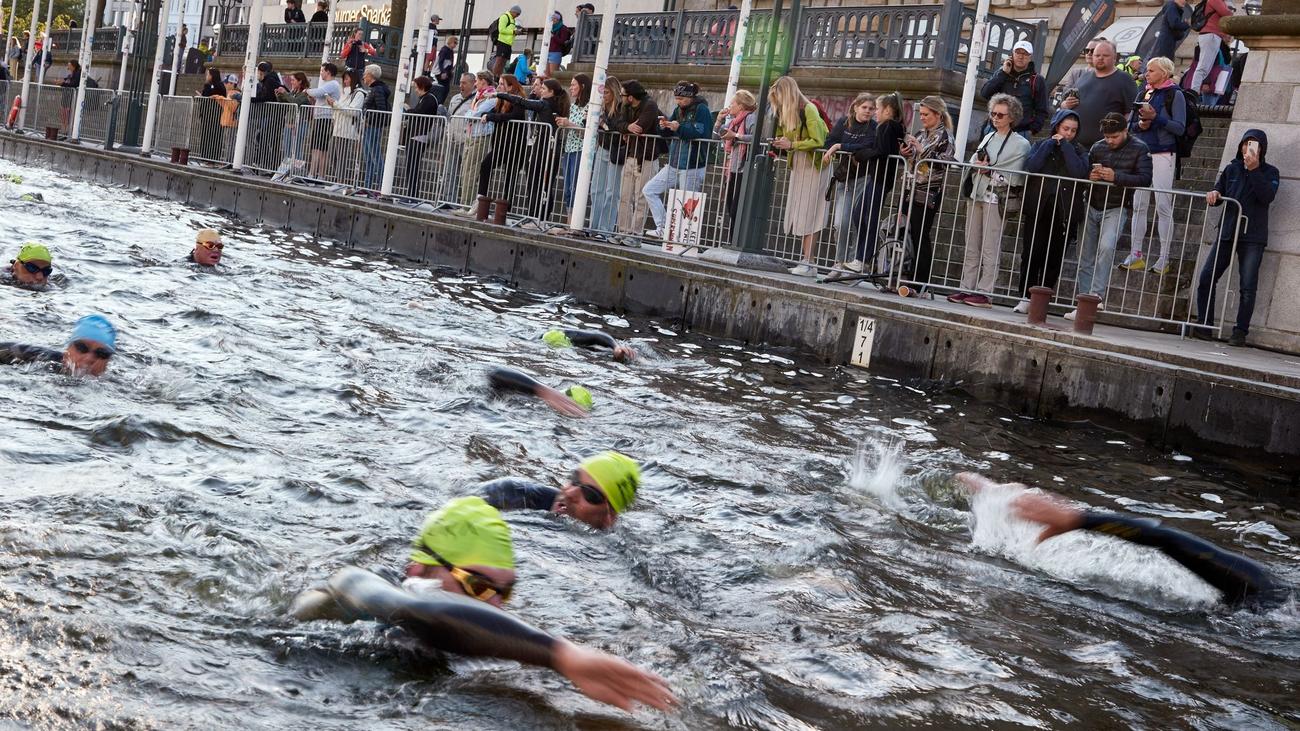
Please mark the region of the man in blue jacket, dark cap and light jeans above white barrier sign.
[[664, 216], [663, 195], [670, 189], [698, 191], [705, 186], [705, 164], [708, 163], [707, 142], [714, 134], [714, 116], [708, 104], [699, 96], [699, 85], [689, 81], [677, 82], [672, 90], [677, 108], [671, 118], [659, 117], [659, 134], [671, 138], [668, 144], [668, 165], [650, 178], [641, 193], [646, 196], [654, 229], [646, 232], [650, 238], [663, 238]]

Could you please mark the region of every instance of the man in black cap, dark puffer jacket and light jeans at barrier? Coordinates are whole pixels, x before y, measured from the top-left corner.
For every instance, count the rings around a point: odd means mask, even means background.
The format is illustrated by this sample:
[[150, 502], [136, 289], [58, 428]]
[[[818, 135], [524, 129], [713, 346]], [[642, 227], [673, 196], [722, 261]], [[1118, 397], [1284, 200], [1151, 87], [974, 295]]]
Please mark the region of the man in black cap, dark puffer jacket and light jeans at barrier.
[[[1079, 242], [1079, 278], [1076, 294], [1096, 294], [1102, 300], [1110, 285], [1114, 267], [1115, 242], [1124, 225], [1124, 215], [1132, 207], [1132, 189], [1150, 185], [1150, 152], [1143, 142], [1128, 134], [1128, 120], [1110, 113], [1101, 120], [1105, 139], [1088, 151], [1092, 172], [1088, 179], [1113, 185], [1093, 185], [1088, 195], [1088, 215], [1083, 222]], [[1104, 310], [1102, 306], [1097, 306]], [[1066, 320], [1074, 320], [1070, 311]]]

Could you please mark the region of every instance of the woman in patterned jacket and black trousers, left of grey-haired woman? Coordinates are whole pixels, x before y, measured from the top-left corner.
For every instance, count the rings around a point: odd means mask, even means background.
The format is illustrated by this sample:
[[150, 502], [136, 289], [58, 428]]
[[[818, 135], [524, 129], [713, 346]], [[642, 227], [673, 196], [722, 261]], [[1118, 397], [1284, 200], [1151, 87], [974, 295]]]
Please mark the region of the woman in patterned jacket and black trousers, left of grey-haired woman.
[[[907, 159], [913, 170], [911, 198], [907, 200], [907, 234], [911, 237], [911, 277], [926, 286], [933, 260], [931, 229], [939, 217], [944, 196], [946, 166], [940, 161], [956, 160], [953, 144], [953, 118], [948, 104], [939, 96], [927, 96], [916, 108], [920, 116], [920, 135], [907, 135], [898, 152]], [[900, 287], [901, 290], [901, 287]], [[914, 297], [911, 289], [901, 291]]]

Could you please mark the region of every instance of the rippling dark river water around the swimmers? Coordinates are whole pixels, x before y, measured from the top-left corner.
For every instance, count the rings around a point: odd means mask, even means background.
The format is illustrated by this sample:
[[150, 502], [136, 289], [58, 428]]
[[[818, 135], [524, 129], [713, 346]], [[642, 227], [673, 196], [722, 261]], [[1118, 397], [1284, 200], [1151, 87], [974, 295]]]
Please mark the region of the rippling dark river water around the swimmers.
[[[1034, 548], [1009, 493], [971, 505], [950, 483], [980, 470], [1157, 516], [1300, 581], [1300, 512], [1266, 471], [5, 172], [25, 177], [0, 183], [5, 259], [46, 241], [69, 285], [0, 287], [0, 339], [61, 346], [101, 311], [121, 356], [98, 381], [0, 367], [0, 727], [1300, 724], [1294, 601], [1217, 610], [1152, 552]], [[181, 263], [202, 226], [226, 233], [220, 273]], [[556, 323], [645, 358], [551, 351]], [[500, 363], [588, 385], [593, 416], [490, 399]], [[511, 611], [654, 669], [680, 711], [286, 619], [338, 567], [400, 566], [477, 481], [554, 483], [608, 447], [645, 466], [636, 509], [604, 535], [511, 514]]]

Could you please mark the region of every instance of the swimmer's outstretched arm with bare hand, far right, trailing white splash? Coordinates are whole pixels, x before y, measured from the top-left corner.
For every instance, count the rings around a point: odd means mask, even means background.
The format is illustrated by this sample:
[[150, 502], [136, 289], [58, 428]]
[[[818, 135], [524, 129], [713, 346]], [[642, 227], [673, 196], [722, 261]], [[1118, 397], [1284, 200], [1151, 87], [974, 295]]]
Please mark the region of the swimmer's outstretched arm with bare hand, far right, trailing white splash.
[[[957, 479], [971, 493], [998, 486], [988, 477], [974, 472], [962, 472]], [[1024, 485], [1019, 484], [1005, 486], [1024, 489]], [[1290, 589], [1258, 562], [1223, 550], [1191, 533], [1160, 525], [1152, 519], [1084, 510], [1056, 496], [1037, 493], [1020, 494], [1011, 505], [1020, 520], [1044, 525], [1037, 542], [1070, 531], [1092, 531], [1150, 546], [1222, 592], [1223, 604], [1230, 606], [1254, 609], [1277, 606], [1286, 601], [1290, 593]]]

